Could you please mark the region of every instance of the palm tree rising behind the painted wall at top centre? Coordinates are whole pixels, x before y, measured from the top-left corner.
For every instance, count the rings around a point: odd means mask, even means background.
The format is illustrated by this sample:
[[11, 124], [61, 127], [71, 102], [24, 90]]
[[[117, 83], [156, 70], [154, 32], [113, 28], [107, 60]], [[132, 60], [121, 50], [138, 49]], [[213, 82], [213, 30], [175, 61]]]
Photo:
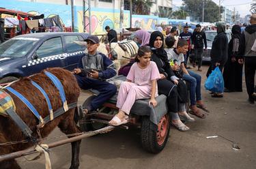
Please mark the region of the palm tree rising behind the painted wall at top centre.
[[132, 13], [149, 15], [150, 7], [152, 7], [153, 3], [153, 0], [132, 0]]

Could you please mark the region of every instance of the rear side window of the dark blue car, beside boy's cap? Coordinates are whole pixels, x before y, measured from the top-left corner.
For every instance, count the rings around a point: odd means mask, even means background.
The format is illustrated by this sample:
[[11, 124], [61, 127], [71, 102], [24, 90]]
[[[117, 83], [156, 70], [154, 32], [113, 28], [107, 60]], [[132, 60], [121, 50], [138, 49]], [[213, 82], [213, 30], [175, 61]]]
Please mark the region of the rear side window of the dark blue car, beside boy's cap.
[[79, 50], [83, 50], [83, 46], [76, 44], [74, 41], [83, 41], [83, 37], [79, 37], [76, 35], [67, 35], [64, 36], [66, 42], [66, 48], [68, 52], [75, 52]]

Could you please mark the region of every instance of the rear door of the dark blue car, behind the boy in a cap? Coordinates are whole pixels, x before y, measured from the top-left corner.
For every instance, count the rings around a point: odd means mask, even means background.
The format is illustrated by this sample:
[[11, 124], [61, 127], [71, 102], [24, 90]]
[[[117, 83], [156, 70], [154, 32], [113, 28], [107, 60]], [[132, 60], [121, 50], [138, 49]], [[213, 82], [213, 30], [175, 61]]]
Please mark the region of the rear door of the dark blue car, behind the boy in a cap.
[[74, 68], [77, 67], [81, 57], [83, 57], [85, 51], [85, 46], [76, 44], [76, 42], [83, 42], [84, 38], [81, 35], [64, 35], [63, 39], [67, 52], [67, 62], [65, 68], [67, 70], [74, 70]]

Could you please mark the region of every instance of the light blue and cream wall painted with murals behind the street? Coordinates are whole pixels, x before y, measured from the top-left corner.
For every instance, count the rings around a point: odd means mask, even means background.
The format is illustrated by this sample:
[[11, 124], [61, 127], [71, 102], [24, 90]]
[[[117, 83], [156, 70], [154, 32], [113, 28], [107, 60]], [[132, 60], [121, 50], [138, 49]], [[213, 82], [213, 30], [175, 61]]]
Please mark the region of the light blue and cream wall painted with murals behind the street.
[[[33, 14], [44, 14], [45, 18], [58, 14], [66, 27], [71, 27], [71, 6], [53, 3], [33, 3], [29, 1], [9, 0], [8, 3], [0, 1], [0, 7], [10, 10], [20, 10]], [[86, 14], [88, 16], [88, 12]], [[91, 8], [91, 31], [93, 34], [106, 33], [104, 27], [109, 25], [111, 28], [119, 29], [120, 10], [106, 8]], [[158, 16], [132, 15], [132, 27], [139, 27], [145, 30], [155, 29], [157, 24], [168, 24], [173, 20], [168, 18], [158, 18]], [[184, 21], [184, 20], [182, 20]], [[86, 23], [89, 22], [86, 17]], [[74, 31], [83, 32], [83, 7], [74, 6]], [[124, 11], [123, 27], [130, 27], [130, 12]], [[86, 32], [89, 32], [87, 27]]]

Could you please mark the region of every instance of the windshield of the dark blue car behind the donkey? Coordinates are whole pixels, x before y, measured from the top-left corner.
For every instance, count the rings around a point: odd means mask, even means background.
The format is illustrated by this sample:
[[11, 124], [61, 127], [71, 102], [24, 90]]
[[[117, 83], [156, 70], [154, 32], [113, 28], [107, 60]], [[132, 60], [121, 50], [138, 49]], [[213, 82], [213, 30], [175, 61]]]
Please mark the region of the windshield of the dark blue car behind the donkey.
[[0, 57], [24, 57], [38, 40], [32, 37], [14, 37], [0, 44]]

